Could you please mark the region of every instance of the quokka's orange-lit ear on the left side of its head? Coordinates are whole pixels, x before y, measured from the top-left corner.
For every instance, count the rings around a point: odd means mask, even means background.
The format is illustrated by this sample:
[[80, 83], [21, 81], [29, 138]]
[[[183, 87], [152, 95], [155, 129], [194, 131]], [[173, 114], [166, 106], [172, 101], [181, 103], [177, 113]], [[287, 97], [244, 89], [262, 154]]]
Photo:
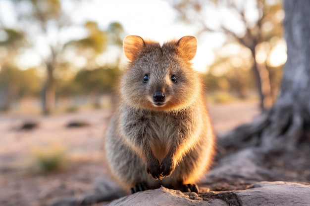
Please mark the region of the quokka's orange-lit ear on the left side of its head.
[[125, 37], [123, 42], [123, 50], [125, 56], [130, 60], [133, 61], [139, 51], [143, 49], [145, 46], [144, 40], [139, 36], [129, 35]]

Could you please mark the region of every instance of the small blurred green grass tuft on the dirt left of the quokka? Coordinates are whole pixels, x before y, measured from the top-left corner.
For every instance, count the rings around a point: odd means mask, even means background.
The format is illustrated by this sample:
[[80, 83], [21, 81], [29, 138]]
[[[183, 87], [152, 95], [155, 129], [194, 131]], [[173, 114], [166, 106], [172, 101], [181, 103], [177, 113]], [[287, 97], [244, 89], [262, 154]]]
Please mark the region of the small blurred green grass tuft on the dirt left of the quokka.
[[35, 146], [31, 149], [34, 169], [39, 172], [51, 172], [60, 170], [66, 162], [66, 150], [60, 143], [54, 143], [45, 147]]

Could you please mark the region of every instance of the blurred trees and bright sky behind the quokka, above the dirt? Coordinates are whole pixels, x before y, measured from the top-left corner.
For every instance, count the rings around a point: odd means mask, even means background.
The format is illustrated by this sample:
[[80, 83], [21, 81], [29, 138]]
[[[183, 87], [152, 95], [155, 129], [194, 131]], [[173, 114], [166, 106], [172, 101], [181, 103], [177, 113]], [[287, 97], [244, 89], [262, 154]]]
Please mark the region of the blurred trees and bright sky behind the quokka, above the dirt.
[[126, 35], [197, 36], [210, 99], [268, 108], [286, 61], [283, 18], [279, 0], [0, 0], [0, 110], [106, 106]]

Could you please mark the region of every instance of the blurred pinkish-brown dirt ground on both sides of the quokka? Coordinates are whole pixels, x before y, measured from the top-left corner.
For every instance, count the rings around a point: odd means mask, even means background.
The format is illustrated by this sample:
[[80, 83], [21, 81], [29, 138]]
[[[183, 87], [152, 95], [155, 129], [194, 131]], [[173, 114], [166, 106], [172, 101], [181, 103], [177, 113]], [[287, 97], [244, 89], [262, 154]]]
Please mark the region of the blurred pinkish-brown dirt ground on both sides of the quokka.
[[[247, 123], [259, 114], [257, 102], [208, 107], [217, 134]], [[109, 110], [51, 117], [0, 115], [0, 206], [43, 206], [94, 192], [98, 178], [110, 178], [103, 163], [103, 135], [110, 115]], [[39, 123], [38, 127], [18, 129], [29, 120]], [[84, 121], [89, 126], [66, 127], [72, 121]], [[54, 172], [38, 172], [34, 169], [35, 154], [51, 148], [65, 151], [64, 167]]]

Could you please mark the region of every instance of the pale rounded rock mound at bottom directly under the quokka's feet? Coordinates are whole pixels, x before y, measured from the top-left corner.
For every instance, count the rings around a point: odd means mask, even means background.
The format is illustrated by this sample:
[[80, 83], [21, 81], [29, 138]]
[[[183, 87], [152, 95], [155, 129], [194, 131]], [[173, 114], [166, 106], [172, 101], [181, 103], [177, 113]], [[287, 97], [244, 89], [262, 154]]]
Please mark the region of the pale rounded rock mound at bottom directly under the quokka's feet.
[[[199, 197], [197, 197], [199, 198]], [[178, 190], [161, 187], [147, 190], [114, 200], [106, 206], [228, 206], [224, 201], [211, 199], [208, 201], [191, 200], [189, 195]]]

